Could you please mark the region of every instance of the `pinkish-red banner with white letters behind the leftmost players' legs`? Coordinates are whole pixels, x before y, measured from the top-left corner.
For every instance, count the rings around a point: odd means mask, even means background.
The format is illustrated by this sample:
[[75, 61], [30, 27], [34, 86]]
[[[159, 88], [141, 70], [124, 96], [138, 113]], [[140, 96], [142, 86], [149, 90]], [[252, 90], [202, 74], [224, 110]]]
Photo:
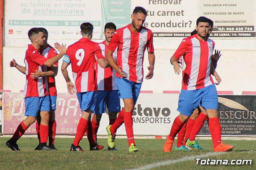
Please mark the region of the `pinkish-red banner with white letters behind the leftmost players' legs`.
[[[3, 134], [13, 134], [18, 125], [26, 119], [23, 93], [4, 93], [4, 130]], [[58, 93], [55, 117], [56, 134], [76, 134], [76, 127], [81, 118], [81, 109], [76, 95]], [[36, 134], [35, 123], [25, 134]]]

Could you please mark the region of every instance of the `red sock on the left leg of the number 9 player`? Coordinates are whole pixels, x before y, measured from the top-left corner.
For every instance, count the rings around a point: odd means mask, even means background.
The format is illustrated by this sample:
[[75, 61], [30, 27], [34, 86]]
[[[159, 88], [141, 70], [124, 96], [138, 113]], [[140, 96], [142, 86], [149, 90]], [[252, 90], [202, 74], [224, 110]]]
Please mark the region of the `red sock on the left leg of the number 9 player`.
[[88, 121], [81, 117], [76, 129], [76, 136], [73, 142], [75, 146], [79, 145], [79, 142], [80, 140], [82, 140], [87, 128], [88, 128]]

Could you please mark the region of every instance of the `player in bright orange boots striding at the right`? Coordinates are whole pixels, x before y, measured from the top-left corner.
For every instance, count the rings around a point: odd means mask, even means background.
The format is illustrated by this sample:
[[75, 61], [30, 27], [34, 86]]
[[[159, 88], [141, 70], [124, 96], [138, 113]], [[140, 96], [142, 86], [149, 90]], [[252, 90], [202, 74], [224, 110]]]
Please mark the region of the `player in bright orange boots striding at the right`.
[[210, 21], [208, 18], [199, 17], [196, 21], [197, 34], [184, 38], [170, 59], [176, 74], [180, 74], [180, 65], [177, 61], [182, 55], [184, 56], [186, 68], [182, 72], [182, 90], [177, 109], [180, 115], [174, 120], [170, 134], [166, 137], [164, 152], [172, 150], [176, 134], [199, 105], [206, 109], [209, 117], [209, 130], [212, 135], [213, 150], [226, 152], [234, 147], [221, 142], [221, 127], [217, 113], [218, 95], [211, 74], [218, 81], [216, 84], [221, 82], [221, 78], [211, 63], [215, 43], [208, 38], [209, 26]]

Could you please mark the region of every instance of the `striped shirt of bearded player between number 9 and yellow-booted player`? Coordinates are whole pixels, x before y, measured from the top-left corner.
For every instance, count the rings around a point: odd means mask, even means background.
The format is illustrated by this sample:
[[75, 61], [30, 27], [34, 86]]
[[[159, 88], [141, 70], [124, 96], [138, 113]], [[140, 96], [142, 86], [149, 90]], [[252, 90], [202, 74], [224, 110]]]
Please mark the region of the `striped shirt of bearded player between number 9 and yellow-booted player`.
[[[106, 58], [106, 53], [108, 51], [108, 45], [106, 45], [106, 40], [99, 43], [101, 53]], [[116, 59], [116, 50], [113, 53], [113, 58]], [[98, 83], [98, 90], [117, 90], [116, 85], [116, 71], [112, 67], [102, 68], [96, 61], [96, 78]]]

